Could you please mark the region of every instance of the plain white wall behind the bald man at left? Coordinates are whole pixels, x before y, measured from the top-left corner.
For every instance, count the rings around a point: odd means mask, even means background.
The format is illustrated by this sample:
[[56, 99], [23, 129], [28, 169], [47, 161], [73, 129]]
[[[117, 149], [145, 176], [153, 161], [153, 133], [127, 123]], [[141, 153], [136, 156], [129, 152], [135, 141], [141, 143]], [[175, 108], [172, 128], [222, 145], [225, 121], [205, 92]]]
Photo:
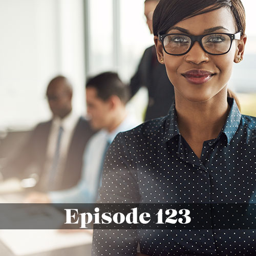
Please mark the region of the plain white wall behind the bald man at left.
[[58, 74], [84, 110], [82, 0], [0, 0], [0, 130], [50, 118], [45, 90]]

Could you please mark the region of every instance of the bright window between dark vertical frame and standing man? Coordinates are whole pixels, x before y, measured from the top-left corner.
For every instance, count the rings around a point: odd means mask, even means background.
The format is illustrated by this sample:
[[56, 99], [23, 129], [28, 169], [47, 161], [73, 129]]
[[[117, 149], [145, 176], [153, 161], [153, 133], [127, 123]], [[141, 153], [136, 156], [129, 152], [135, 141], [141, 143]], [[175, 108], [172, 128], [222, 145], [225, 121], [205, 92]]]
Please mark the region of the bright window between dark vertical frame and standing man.
[[[154, 44], [144, 0], [86, 0], [88, 73], [114, 70], [130, 80], [146, 47]], [[138, 33], [140, 39], [137, 39]]]

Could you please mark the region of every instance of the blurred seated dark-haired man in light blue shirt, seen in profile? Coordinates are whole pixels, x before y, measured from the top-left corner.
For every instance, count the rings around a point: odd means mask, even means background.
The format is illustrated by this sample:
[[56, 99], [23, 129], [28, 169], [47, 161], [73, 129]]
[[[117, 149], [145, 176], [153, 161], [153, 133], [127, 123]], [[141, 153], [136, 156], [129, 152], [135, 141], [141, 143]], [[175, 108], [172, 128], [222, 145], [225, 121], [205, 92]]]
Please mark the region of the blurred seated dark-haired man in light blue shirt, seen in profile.
[[33, 193], [30, 203], [94, 203], [101, 183], [101, 172], [106, 150], [119, 132], [136, 126], [127, 115], [125, 104], [129, 99], [127, 87], [116, 73], [106, 72], [88, 80], [86, 84], [87, 111], [91, 125], [101, 129], [88, 142], [84, 151], [82, 177], [71, 189], [48, 194]]

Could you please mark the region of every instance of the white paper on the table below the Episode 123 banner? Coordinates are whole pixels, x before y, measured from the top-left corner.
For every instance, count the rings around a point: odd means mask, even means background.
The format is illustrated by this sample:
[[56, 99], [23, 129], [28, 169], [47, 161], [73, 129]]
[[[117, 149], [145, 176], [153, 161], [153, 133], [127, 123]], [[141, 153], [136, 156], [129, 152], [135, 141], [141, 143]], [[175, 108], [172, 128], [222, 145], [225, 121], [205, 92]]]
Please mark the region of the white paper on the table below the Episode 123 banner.
[[60, 233], [49, 229], [0, 230], [0, 240], [17, 256], [92, 243], [89, 232]]

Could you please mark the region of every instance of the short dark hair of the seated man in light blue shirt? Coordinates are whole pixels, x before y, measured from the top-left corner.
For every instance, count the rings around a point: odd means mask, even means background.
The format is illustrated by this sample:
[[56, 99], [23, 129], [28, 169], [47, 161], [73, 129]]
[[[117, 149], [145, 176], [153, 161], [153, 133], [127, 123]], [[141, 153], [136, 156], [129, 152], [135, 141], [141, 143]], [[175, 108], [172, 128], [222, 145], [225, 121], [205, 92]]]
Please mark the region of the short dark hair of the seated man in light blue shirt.
[[126, 104], [130, 98], [129, 87], [114, 72], [104, 72], [89, 78], [86, 88], [90, 87], [97, 90], [98, 97], [102, 100], [108, 100], [112, 95], [116, 95]]

